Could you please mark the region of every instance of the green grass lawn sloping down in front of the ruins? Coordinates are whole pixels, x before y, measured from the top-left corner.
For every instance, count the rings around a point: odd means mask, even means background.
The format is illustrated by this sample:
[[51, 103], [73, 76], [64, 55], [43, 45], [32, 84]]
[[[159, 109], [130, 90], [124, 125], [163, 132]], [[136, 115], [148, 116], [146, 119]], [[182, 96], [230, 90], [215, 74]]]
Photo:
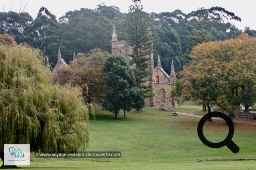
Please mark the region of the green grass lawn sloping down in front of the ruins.
[[[188, 104], [176, 111], [200, 111]], [[255, 170], [256, 161], [197, 162], [200, 159], [256, 158], [256, 126], [235, 125], [232, 141], [240, 151], [232, 153], [226, 146], [205, 146], [197, 135], [200, 118], [171, 116], [171, 112], [144, 108], [143, 113], [114, 114], [96, 110], [96, 120], [89, 122], [87, 151], [121, 151], [121, 158], [35, 158], [31, 154], [27, 169], [114, 169], [114, 170]], [[246, 120], [246, 119], [244, 119]], [[220, 120], [207, 122], [204, 133], [212, 142], [227, 136], [228, 127]], [[26, 168], [24, 168], [26, 169]]]

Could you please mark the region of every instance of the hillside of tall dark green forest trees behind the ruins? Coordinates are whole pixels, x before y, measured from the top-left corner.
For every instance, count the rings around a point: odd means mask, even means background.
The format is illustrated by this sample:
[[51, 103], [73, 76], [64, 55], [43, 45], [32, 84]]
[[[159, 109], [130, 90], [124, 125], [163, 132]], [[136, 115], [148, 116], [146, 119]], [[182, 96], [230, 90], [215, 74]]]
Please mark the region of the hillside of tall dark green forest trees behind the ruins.
[[[54, 13], [54, 12], [53, 12]], [[88, 53], [94, 48], [111, 53], [113, 23], [116, 25], [118, 40], [125, 39], [123, 19], [127, 14], [116, 6], [103, 3], [97, 9], [81, 8], [69, 11], [58, 20], [56, 16], [41, 7], [37, 17], [24, 12], [0, 12], [0, 34], [11, 35], [17, 43], [27, 43], [39, 48], [43, 56], [48, 56], [52, 66], [57, 62], [58, 48], [68, 63], [73, 53]], [[180, 10], [148, 14], [154, 39], [154, 63], [160, 56], [162, 67], [170, 73], [171, 60], [179, 72], [192, 47], [198, 43], [226, 40], [246, 33], [256, 36], [256, 30], [246, 27], [244, 32], [228, 21], [241, 19], [221, 7], [200, 8], [189, 14]]]

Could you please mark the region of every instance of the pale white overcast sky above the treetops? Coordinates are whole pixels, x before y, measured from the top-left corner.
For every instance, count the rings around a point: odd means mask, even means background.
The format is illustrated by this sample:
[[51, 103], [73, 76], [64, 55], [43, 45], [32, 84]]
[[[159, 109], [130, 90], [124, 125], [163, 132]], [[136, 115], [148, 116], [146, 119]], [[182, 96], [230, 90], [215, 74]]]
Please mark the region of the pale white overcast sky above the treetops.
[[[95, 9], [100, 3], [106, 6], [119, 7], [123, 13], [128, 12], [131, 0], [0, 0], [0, 12], [19, 12], [27, 3], [24, 12], [28, 12], [33, 18], [39, 12], [40, 7], [46, 7], [57, 18], [65, 15], [68, 11], [80, 8]], [[242, 19], [242, 22], [229, 21], [231, 24], [244, 31], [244, 27], [249, 26], [256, 30], [256, 1], [255, 0], [142, 0], [144, 11], [151, 13], [173, 12], [180, 9], [185, 14], [196, 11], [199, 7], [210, 8], [213, 6], [223, 7], [229, 12]]]

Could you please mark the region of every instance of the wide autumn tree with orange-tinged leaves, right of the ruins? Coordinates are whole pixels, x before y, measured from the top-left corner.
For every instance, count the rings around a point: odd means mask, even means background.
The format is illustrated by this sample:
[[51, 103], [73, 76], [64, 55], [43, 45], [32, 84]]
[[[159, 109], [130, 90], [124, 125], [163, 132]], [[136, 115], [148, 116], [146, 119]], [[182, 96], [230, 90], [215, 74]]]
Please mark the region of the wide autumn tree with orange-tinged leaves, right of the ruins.
[[[193, 48], [192, 61], [179, 73], [176, 96], [206, 102], [232, 115], [240, 104], [251, 106], [256, 96], [256, 38], [202, 43]], [[210, 109], [210, 108], [209, 108]], [[232, 118], [232, 116], [230, 116]]]

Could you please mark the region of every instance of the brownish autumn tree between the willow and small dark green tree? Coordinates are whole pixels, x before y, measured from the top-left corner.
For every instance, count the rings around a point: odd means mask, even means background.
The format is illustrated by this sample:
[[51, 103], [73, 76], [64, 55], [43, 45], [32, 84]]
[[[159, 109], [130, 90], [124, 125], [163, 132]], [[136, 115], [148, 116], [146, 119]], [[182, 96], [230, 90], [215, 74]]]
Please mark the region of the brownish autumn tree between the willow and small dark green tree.
[[87, 54], [77, 54], [77, 58], [70, 64], [56, 70], [57, 83], [81, 87], [86, 103], [100, 102], [105, 95], [104, 76], [106, 73], [103, 71], [103, 64], [107, 55], [107, 52], [97, 48]]

